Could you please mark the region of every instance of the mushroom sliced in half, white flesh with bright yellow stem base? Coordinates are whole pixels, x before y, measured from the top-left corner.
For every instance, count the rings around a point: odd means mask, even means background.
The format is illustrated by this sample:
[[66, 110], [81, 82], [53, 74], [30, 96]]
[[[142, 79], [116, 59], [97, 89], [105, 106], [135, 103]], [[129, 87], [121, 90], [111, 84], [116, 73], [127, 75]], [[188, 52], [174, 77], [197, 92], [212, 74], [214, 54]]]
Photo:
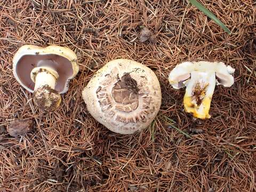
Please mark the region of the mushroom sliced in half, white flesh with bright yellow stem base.
[[177, 65], [169, 75], [174, 89], [186, 86], [183, 104], [187, 113], [196, 118], [210, 118], [209, 110], [215, 85], [230, 87], [234, 84], [235, 72], [223, 62], [183, 62]]

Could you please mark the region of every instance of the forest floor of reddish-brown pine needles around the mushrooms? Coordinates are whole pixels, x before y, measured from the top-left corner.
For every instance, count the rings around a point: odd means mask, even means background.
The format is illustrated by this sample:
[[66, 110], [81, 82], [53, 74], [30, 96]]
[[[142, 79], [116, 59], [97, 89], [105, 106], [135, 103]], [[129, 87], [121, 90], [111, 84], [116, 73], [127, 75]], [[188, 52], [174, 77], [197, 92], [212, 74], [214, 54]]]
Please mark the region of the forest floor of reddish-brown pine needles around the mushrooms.
[[[0, 191], [256, 191], [256, 4], [201, 3], [231, 35], [187, 1], [0, 1]], [[142, 26], [154, 41], [140, 41]], [[53, 113], [38, 110], [13, 76], [25, 44], [78, 56], [80, 71]], [[161, 109], [140, 133], [107, 130], [82, 99], [92, 75], [117, 58], [143, 63], [161, 83]], [[210, 119], [185, 113], [185, 89], [167, 81], [187, 60], [236, 69], [233, 86], [215, 87]], [[11, 137], [13, 119], [34, 127]]]

